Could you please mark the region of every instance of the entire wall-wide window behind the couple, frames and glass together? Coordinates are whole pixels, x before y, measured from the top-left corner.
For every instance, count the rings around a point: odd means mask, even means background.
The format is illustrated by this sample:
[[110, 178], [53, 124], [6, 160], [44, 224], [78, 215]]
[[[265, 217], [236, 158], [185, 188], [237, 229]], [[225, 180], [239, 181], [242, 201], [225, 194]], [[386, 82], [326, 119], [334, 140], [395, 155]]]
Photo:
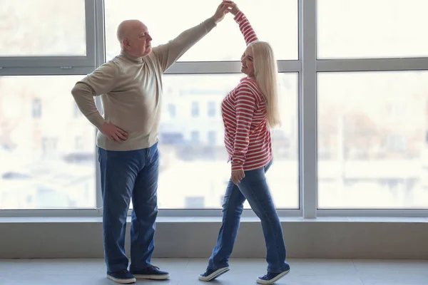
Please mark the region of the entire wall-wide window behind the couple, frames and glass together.
[[[2, 0], [0, 210], [101, 215], [95, 128], [71, 88], [120, 53], [121, 21], [143, 21], [157, 46], [213, 16], [220, 3]], [[426, 216], [428, 2], [238, 6], [278, 60], [282, 127], [272, 130], [267, 172], [278, 212]], [[221, 214], [230, 164], [220, 105], [244, 76], [244, 50], [238, 25], [226, 15], [163, 76], [161, 215]]]

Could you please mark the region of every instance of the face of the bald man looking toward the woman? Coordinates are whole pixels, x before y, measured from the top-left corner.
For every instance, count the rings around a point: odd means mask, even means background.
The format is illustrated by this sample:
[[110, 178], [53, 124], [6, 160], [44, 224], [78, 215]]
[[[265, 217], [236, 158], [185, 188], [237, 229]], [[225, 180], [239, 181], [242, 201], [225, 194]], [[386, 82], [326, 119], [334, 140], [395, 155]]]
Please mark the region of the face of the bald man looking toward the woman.
[[147, 26], [138, 22], [129, 33], [127, 51], [133, 56], [147, 56], [152, 51], [151, 41]]

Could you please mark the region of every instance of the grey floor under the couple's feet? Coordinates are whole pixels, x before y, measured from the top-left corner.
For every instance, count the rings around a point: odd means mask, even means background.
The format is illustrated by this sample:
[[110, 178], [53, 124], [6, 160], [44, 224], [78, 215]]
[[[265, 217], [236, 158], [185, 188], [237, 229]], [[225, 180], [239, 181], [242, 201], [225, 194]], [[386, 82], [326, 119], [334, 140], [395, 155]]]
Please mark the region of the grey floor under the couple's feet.
[[[283, 285], [428, 285], [428, 260], [290, 259], [291, 272]], [[206, 259], [154, 259], [170, 271], [168, 281], [137, 284], [207, 284], [198, 281]], [[265, 272], [263, 259], [233, 259], [230, 271], [210, 284], [256, 284]], [[102, 259], [0, 259], [1, 285], [114, 284], [105, 278]]]

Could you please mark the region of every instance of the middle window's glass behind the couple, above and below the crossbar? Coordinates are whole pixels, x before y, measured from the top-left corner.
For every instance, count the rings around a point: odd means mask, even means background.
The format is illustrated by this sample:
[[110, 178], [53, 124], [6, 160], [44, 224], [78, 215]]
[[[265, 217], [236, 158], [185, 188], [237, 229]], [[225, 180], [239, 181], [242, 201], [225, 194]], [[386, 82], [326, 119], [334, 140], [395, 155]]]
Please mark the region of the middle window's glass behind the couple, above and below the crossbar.
[[[124, 19], [139, 19], [148, 26], [153, 46], [166, 43], [185, 29], [212, 16], [219, 1], [190, 0], [198, 13], [183, 16], [177, 1], [128, 1], [133, 9], [123, 9], [117, 0], [106, 0], [106, 60], [120, 52], [116, 38], [118, 24]], [[165, 5], [163, 17], [158, 11]], [[243, 1], [245, 12], [260, 39], [275, 48], [277, 59], [298, 58], [298, 1]], [[272, 9], [275, 7], [275, 9]], [[260, 17], [270, 14], [269, 18]], [[282, 26], [281, 36], [275, 27]], [[214, 48], [215, 47], [215, 48]], [[233, 21], [225, 19], [179, 61], [239, 61], [245, 41]], [[207, 63], [208, 70], [209, 64]], [[225, 95], [238, 83], [242, 74], [166, 75], [163, 82], [163, 110], [160, 134], [161, 174], [158, 202], [161, 209], [217, 209], [230, 177], [230, 164], [223, 142], [223, 123], [220, 104]], [[275, 163], [267, 174], [272, 196], [278, 208], [299, 209], [298, 182], [298, 117], [297, 73], [281, 73], [280, 104], [283, 125], [272, 132]], [[173, 105], [174, 116], [170, 106]], [[196, 120], [195, 120], [196, 119]], [[284, 174], [285, 173], [285, 174]], [[205, 199], [200, 199], [204, 197]], [[198, 199], [198, 203], [190, 203]], [[248, 204], [245, 204], [249, 208]]]

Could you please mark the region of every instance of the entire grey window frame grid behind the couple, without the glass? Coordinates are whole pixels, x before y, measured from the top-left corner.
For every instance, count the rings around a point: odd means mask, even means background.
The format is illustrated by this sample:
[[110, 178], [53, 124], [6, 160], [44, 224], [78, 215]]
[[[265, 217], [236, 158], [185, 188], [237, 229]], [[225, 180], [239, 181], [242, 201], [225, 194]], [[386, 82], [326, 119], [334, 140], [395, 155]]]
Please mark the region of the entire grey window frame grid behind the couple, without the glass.
[[[317, 59], [317, 1], [298, 1], [298, 59], [278, 61], [280, 73], [298, 75], [299, 209], [277, 209], [280, 217], [428, 217], [428, 209], [318, 209], [317, 73], [347, 71], [422, 71], [428, 58]], [[105, 61], [103, 0], [86, 0], [85, 57], [0, 57], [0, 76], [91, 73]], [[71, 66], [71, 68], [69, 68]], [[178, 62], [166, 74], [240, 73], [240, 61]], [[101, 110], [100, 98], [96, 104]], [[95, 138], [94, 138], [95, 139]], [[95, 142], [95, 140], [94, 140]], [[94, 148], [96, 146], [94, 143]], [[97, 160], [97, 158], [96, 158]], [[96, 161], [96, 208], [0, 210], [0, 217], [101, 217], [100, 167]], [[128, 211], [131, 214], [131, 210]], [[159, 209], [159, 217], [221, 217], [221, 209]], [[244, 209], [243, 217], [255, 217]]]

